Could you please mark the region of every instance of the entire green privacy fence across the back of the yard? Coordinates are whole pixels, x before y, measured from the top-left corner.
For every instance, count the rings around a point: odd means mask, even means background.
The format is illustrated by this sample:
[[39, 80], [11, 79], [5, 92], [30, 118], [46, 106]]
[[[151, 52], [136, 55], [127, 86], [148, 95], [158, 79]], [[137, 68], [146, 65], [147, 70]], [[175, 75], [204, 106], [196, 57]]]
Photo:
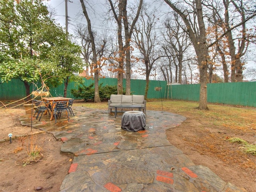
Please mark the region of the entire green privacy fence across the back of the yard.
[[[89, 86], [94, 80], [84, 79], [84, 85]], [[116, 78], [102, 78], [102, 85], [116, 85]], [[126, 80], [123, 80], [125, 87]], [[40, 85], [38, 85], [40, 87]], [[136, 95], [145, 94], [146, 80], [131, 80], [131, 92]], [[70, 82], [67, 97], [74, 98], [71, 89], [78, 88]], [[199, 100], [200, 84], [167, 85], [166, 81], [150, 80], [148, 98], [168, 98], [179, 100]], [[31, 86], [32, 91], [32, 86]], [[50, 88], [52, 96], [63, 96], [64, 84], [57, 88]], [[19, 100], [26, 96], [24, 84], [14, 79], [8, 83], [0, 84], [0, 100]], [[256, 82], [216, 83], [207, 84], [207, 100], [211, 103], [223, 103], [241, 106], [256, 107]]]

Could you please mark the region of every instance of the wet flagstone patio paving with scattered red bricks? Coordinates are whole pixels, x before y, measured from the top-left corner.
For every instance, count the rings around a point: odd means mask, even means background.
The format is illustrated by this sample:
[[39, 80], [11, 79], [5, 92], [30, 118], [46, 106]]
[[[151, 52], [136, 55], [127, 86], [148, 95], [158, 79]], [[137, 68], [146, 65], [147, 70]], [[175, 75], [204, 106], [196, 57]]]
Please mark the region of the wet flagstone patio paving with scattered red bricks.
[[[62, 140], [62, 152], [74, 154], [60, 192], [246, 192], [226, 183], [205, 166], [196, 166], [170, 144], [166, 129], [178, 126], [184, 116], [169, 112], [146, 112], [146, 130], [121, 129], [107, 110], [74, 107], [75, 116], [62, 114], [57, 123], [43, 116], [32, 126]], [[30, 126], [29, 115], [20, 117]]]

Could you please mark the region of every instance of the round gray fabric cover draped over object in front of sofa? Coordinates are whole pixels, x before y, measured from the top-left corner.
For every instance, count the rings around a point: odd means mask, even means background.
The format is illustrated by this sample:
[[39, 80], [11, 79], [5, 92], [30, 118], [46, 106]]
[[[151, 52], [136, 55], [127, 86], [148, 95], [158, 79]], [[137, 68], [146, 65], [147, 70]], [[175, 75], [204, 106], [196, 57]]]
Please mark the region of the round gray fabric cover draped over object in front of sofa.
[[146, 116], [141, 111], [126, 111], [122, 116], [121, 128], [126, 131], [145, 130]]

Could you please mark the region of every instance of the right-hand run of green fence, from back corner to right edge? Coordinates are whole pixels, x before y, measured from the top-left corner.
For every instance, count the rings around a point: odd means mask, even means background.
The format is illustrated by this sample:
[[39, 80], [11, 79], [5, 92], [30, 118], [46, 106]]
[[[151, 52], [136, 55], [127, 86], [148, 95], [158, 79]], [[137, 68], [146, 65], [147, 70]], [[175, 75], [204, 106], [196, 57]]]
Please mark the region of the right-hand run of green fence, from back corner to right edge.
[[[198, 101], [199, 90], [200, 84], [169, 86], [169, 98]], [[207, 101], [256, 107], [256, 82], [207, 84]]]

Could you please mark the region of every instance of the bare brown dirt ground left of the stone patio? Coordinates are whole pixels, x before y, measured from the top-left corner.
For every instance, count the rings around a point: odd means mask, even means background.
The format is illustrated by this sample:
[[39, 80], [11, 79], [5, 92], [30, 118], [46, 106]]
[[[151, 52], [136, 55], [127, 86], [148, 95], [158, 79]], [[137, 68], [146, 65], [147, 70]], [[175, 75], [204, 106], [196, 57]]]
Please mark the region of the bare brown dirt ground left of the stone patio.
[[[0, 192], [29, 192], [39, 186], [42, 186], [44, 192], [58, 192], [72, 163], [71, 155], [60, 153], [62, 142], [47, 133], [29, 136], [31, 128], [22, 126], [15, 115], [24, 113], [24, 109], [13, 109], [11, 113], [3, 113], [0, 109], [0, 112], [0, 139], [8, 138], [9, 133], [12, 133], [12, 138], [27, 135], [12, 139], [12, 143], [10, 140], [0, 143]], [[38, 129], [32, 129], [32, 133], [37, 132]], [[42, 158], [22, 166], [33, 140], [34, 146], [41, 148]], [[22, 147], [23, 150], [19, 151]]]

